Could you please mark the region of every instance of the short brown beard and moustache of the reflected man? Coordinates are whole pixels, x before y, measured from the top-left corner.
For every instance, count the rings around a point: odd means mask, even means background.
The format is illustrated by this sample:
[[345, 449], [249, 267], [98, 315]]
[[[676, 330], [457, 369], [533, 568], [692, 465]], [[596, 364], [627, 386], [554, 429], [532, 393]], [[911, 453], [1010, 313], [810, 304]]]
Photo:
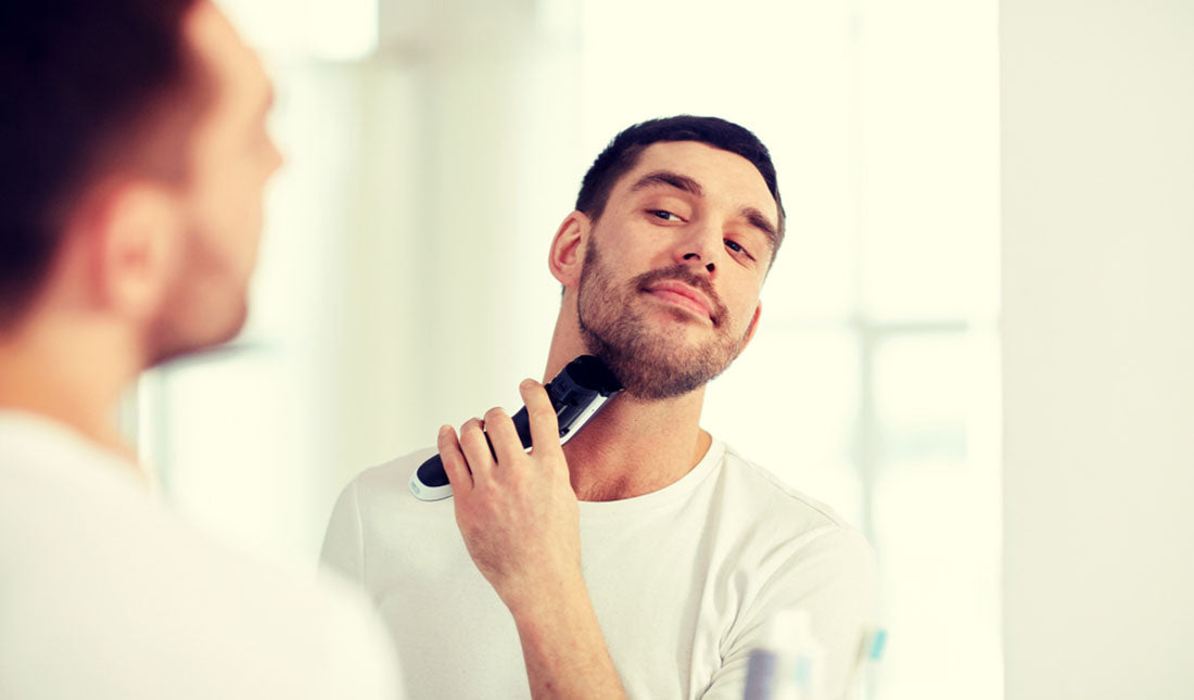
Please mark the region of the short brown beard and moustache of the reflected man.
[[[683, 328], [665, 328], [644, 318], [635, 301], [663, 280], [677, 280], [708, 296], [713, 305], [712, 339], [693, 345]], [[682, 309], [675, 309], [675, 314], [691, 320]], [[713, 285], [688, 265], [651, 270], [624, 287], [616, 285], [596, 241], [590, 239], [577, 291], [577, 320], [589, 354], [609, 366], [627, 394], [653, 401], [671, 399], [703, 387], [725, 372], [741, 352], [747, 336], [737, 336], [727, 327], [728, 315]]]

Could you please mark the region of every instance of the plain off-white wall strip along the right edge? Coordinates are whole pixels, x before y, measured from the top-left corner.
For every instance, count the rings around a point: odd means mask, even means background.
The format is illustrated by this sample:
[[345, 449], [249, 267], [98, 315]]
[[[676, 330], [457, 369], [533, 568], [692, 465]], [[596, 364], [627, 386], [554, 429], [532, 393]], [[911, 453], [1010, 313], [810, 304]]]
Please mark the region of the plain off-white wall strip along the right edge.
[[1194, 4], [1003, 0], [1015, 700], [1194, 696]]

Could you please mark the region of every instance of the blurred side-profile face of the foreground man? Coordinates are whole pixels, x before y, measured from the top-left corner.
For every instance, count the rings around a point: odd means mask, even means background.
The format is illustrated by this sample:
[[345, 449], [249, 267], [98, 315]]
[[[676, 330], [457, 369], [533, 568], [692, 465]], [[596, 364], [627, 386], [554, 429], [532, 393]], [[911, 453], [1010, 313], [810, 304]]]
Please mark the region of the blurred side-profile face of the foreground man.
[[253, 51], [207, 0], [191, 10], [184, 35], [210, 98], [191, 140], [180, 265], [149, 331], [154, 362], [222, 343], [244, 326], [265, 183], [282, 164], [265, 123], [272, 87]]

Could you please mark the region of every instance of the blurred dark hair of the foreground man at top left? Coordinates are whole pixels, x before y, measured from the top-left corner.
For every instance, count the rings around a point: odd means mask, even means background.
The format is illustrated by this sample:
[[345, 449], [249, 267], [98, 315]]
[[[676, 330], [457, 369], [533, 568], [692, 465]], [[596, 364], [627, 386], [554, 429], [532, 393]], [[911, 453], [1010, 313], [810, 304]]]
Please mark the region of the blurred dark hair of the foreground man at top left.
[[196, 1], [0, 7], [0, 327], [39, 290], [88, 184], [155, 165], [185, 176], [185, 136], [155, 136], [195, 92], [183, 20]]

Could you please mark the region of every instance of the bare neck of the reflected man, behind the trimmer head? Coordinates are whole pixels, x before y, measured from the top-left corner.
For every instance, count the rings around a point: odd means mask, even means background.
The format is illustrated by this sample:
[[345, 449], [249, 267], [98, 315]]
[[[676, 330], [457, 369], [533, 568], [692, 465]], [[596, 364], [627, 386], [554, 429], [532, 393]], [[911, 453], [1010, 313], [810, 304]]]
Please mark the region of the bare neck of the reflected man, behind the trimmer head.
[[[576, 314], [561, 305], [543, 381], [586, 349]], [[564, 446], [572, 489], [580, 501], [618, 501], [676, 483], [708, 452], [701, 429], [704, 388], [675, 399], [645, 401], [624, 393]]]

